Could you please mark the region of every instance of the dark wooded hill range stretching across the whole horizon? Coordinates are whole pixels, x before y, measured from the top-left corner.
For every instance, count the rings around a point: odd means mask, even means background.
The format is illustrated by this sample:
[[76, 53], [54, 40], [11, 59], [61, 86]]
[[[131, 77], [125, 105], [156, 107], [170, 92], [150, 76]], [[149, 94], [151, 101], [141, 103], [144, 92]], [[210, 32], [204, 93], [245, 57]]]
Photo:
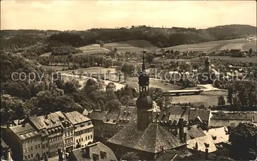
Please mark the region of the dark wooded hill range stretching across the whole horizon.
[[[31, 33], [40, 36], [31, 36]], [[27, 36], [28, 34], [30, 34], [30, 36]], [[131, 28], [100, 28], [70, 32], [52, 30], [1, 30], [1, 49], [13, 48], [15, 46], [16, 48], [21, 48], [26, 45], [31, 46], [36, 41], [44, 44], [54, 42], [54, 44], [61, 43], [81, 47], [94, 43], [100, 44], [99, 41], [103, 41], [107, 44], [138, 39], [148, 41], [158, 48], [166, 48], [185, 44], [246, 38], [251, 35], [256, 35], [256, 27], [250, 25], [226, 25], [207, 29], [179, 27], [153, 28], [143, 25], [137, 27], [132, 26]], [[19, 38], [17, 39], [17, 37]], [[27, 40], [30, 38], [33, 39], [33, 41]], [[51, 47], [52, 46], [54, 45], [51, 45]]]

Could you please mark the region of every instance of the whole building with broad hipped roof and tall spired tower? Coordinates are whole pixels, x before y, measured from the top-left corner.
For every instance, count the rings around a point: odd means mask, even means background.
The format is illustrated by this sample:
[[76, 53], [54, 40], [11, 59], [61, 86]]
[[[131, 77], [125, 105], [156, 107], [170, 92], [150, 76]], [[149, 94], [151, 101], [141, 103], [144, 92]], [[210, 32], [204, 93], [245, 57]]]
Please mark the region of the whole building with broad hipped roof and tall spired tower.
[[[183, 134], [180, 134], [182, 138], [179, 140], [168, 128], [153, 122], [153, 102], [149, 96], [149, 76], [145, 73], [144, 58], [142, 74], [138, 79], [137, 119], [107, 140], [108, 147], [114, 151], [118, 159], [126, 152], [137, 152], [140, 160], [154, 160], [157, 154], [165, 150], [185, 148]], [[181, 118], [180, 128], [182, 122]]]

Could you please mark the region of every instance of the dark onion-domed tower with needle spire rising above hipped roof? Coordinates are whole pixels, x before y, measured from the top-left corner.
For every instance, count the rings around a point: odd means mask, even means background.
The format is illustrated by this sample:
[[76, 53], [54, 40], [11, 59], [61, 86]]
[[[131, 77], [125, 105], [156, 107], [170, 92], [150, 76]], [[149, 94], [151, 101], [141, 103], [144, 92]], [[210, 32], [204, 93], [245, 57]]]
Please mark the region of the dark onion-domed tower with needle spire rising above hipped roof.
[[137, 98], [137, 127], [144, 130], [153, 122], [153, 101], [149, 96], [149, 76], [145, 72], [144, 55], [142, 72], [138, 77], [139, 97]]

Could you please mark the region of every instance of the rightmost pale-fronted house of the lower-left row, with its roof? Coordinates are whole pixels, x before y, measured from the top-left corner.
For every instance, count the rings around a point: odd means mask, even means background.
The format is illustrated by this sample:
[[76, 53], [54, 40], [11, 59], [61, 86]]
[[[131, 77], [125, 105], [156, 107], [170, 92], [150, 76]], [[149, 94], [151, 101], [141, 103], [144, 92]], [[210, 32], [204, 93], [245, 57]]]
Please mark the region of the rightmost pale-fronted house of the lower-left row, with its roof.
[[[94, 126], [88, 117], [83, 116], [78, 111], [68, 112], [64, 114], [74, 129], [64, 133], [65, 145], [75, 146], [75, 148], [84, 147], [93, 143]], [[74, 136], [73, 136], [74, 134]], [[74, 138], [74, 142], [73, 142]], [[70, 140], [72, 139], [72, 142]]]

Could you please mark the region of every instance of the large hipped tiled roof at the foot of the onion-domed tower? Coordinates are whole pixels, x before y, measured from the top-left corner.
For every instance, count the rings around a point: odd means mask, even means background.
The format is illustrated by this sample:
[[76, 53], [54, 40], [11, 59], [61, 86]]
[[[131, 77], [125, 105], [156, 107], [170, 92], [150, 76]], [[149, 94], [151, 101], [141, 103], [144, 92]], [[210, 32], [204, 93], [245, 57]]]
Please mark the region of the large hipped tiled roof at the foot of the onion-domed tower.
[[149, 124], [145, 130], [138, 130], [136, 122], [128, 124], [107, 142], [151, 153], [160, 152], [162, 146], [169, 150], [185, 145], [158, 124]]

